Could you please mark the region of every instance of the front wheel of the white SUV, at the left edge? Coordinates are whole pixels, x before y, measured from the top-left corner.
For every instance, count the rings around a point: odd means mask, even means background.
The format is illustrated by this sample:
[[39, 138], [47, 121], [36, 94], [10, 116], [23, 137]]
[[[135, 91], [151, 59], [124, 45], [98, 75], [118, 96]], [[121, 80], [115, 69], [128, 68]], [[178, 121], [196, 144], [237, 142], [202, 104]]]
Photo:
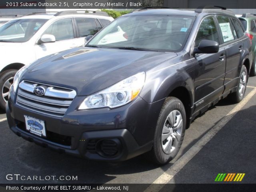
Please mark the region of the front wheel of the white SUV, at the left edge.
[[[6, 100], [8, 100], [8, 95], [4, 96], [4, 94], [7, 94], [9, 92], [8, 88], [6, 86], [4, 86], [4, 84], [9, 80], [10, 84], [13, 83], [13, 79], [16, 72], [18, 70], [16, 69], [10, 69], [10, 70], [6, 70], [4, 72], [2, 72], [0, 74], [0, 108], [2, 108], [3, 110], [5, 110], [5, 104], [6, 104]], [[3, 94], [4, 93], [4, 94]]]

